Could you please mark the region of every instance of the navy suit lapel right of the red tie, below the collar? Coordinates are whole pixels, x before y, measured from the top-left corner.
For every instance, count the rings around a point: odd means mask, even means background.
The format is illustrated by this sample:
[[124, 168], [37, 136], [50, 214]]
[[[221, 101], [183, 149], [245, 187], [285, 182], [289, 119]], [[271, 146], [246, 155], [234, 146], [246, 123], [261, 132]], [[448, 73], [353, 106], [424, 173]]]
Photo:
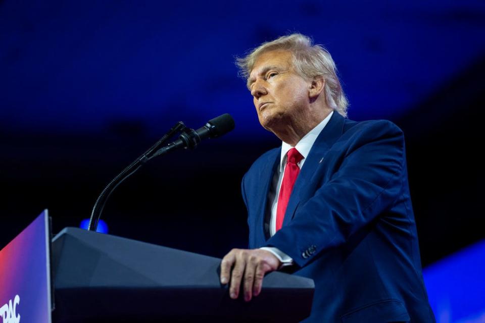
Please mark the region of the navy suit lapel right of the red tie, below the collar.
[[310, 180], [315, 174], [315, 171], [320, 164], [320, 161], [325, 157], [328, 149], [335, 143], [335, 141], [342, 136], [345, 118], [334, 111], [332, 117], [328, 121], [325, 128], [318, 135], [313, 143], [312, 149], [303, 164], [303, 167], [298, 175], [295, 186], [293, 187], [292, 195], [289, 197], [288, 206], [283, 219], [283, 227], [288, 225], [295, 216], [295, 210], [300, 203], [301, 190], [310, 183]]

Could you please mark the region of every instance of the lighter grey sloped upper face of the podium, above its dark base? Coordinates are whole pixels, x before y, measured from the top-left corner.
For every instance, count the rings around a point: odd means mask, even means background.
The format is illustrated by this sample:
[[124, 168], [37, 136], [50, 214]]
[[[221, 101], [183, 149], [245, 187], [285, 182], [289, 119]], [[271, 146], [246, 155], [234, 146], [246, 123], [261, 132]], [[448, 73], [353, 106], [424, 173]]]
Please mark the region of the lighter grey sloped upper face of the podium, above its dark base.
[[[221, 259], [127, 238], [65, 228], [53, 239], [56, 288], [221, 288]], [[264, 288], [313, 289], [311, 279], [273, 272]]]

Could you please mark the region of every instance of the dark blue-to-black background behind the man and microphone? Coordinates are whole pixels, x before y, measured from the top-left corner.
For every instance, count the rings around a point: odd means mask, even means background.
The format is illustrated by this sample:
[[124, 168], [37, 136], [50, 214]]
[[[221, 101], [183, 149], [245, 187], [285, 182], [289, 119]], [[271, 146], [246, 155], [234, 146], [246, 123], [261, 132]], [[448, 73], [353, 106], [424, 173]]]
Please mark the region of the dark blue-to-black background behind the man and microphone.
[[406, 135], [423, 265], [485, 238], [485, 3], [0, 1], [0, 246], [43, 208], [54, 232], [175, 122], [236, 129], [155, 159], [103, 213], [109, 233], [222, 257], [245, 247], [240, 180], [280, 144], [234, 56], [288, 32], [332, 53], [349, 118]]

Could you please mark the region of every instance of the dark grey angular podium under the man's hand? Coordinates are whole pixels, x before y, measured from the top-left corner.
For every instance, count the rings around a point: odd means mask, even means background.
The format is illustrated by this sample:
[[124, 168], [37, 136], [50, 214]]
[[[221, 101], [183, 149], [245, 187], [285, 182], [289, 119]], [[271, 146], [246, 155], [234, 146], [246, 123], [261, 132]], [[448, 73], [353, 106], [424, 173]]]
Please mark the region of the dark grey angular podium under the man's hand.
[[296, 322], [314, 291], [272, 272], [259, 296], [232, 300], [218, 258], [78, 228], [54, 237], [52, 271], [53, 322]]

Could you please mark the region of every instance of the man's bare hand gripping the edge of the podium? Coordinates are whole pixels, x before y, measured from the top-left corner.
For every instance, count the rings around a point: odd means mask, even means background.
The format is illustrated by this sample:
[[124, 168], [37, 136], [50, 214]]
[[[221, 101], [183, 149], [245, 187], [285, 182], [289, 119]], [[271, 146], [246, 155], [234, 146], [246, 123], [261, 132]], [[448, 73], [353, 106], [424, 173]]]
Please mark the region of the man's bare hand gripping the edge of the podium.
[[267, 250], [232, 249], [222, 258], [221, 284], [227, 284], [230, 278], [229, 295], [236, 299], [244, 276], [244, 300], [249, 302], [261, 292], [264, 275], [277, 270], [280, 265], [279, 259]]

